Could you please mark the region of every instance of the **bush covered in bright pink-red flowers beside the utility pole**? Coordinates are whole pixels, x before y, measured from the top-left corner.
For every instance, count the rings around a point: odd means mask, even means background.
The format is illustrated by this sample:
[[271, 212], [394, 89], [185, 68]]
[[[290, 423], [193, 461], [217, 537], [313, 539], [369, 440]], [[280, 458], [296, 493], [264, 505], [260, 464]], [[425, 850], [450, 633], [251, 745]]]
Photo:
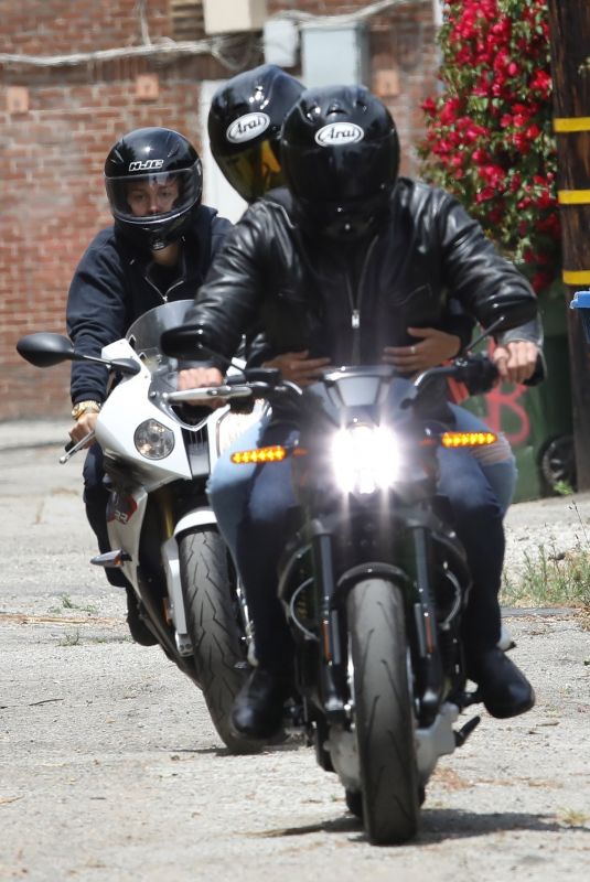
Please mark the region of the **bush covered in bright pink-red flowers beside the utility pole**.
[[547, 0], [450, 0], [439, 43], [422, 175], [546, 290], [561, 265]]

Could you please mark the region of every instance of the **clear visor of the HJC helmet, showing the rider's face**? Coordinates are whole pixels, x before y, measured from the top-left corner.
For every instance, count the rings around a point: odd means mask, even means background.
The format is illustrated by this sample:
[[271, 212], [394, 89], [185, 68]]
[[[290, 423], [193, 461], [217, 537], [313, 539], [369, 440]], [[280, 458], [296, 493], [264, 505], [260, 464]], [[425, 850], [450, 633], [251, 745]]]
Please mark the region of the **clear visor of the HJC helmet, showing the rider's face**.
[[175, 172], [106, 178], [107, 196], [118, 220], [146, 222], [175, 217], [200, 198], [199, 164]]

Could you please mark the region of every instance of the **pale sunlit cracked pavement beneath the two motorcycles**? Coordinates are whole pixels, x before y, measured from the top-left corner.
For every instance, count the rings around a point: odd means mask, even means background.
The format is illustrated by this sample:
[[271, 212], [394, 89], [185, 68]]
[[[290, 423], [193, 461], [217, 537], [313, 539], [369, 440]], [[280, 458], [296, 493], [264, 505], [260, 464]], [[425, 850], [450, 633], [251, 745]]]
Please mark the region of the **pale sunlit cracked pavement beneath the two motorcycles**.
[[[589, 878], [579, 617], [508, 614], [536, 708], [483, 712], [441, 760], [417, 840], [373, 848], [312, 750], [227, 755], [197, 689], [158, 647], [130, 642], [121, 595], [87, 562], [82, 462], [57, 464], [66, 426], [0, 423], [0, 879]], [[524, 506], [511, 509], [513, 545], [565, 516]]]

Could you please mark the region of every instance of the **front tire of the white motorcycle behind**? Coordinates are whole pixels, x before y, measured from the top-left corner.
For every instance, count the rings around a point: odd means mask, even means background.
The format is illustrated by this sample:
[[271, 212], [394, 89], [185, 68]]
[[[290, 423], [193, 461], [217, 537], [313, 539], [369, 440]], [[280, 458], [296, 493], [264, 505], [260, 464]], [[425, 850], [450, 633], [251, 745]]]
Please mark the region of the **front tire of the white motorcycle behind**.
[[186, 533], [179, 546], [186, 627], [211, 719], [232, 753], [257, 753], [260, 744], [240, 739], [230, 724], [249, 667], [227, 547], [215, 528]]

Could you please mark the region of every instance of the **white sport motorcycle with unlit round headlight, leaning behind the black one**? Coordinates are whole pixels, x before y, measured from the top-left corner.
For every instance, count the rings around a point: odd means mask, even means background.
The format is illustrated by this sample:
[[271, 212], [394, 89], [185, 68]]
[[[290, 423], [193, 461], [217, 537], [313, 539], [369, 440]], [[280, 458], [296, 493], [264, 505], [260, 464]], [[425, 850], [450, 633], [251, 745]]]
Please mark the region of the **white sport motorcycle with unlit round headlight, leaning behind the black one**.
[[[106, 365], [112, 385], [95, 435], [104, 453], [111, 551], [93, 563], [118, 567], [136, 592], [140, 616], [178, 667], [203, 691], [211, 718], [234, 753], [259, 745], [235, 736], [229, 712], [249, 670], [253, 636], [227, 548], [205, 484], [221, 450], [256, 418], [228, 407], [187, 408], [167, 400], [178, 363], [159, 349], [162, 331], [183, 321], [192, 301], [141, 315], [101, 357], [79, 354], [67, 337], [31, 334], [19, 353], [49, 367], [64, 361]], [[90, 435], [61, 458], [66, 462]]]

